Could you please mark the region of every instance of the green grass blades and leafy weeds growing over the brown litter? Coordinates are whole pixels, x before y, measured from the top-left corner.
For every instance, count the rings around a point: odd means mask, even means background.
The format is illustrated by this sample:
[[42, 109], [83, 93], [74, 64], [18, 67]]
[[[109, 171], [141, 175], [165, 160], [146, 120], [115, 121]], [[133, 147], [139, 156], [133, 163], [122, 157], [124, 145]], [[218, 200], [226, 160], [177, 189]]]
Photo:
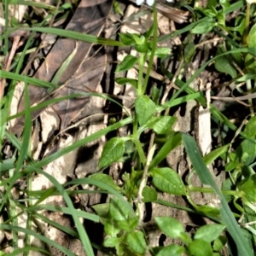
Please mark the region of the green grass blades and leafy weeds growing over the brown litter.
[[[5, 9], [5, 20], [9, 20], [8, 7], [11, 3], [13, 2], [1, 3]], [[14, 3], [17, 6], [24, 4], [29, 6], [30, 9], [27, 10], [22, 22], [30, 22], [32, 25], [21, 25], [21, 21], [12, 17], [11, 26], [14, 28], [8, 28], [9, 23], [6, 21], [5, 31], [0, 36], [3, 42], [1, 47], [3, 58], [1, 60], [4, 58], [7, 60], [9, 46], [11, 46], [8, 38], [11, 33], [16, 30], [29, 32], [29, 38], [22, 41], [23, 45], [20, 48], [15, 49], [11, 65], [7, 67], [2, 63], [0, 71], [2, 86], [4, 86], [0, 110], [0, 144], [2, 148], [0, 232], [4, 236], [0, 241], [1, 255], [18, 255], [20, 253], [33, 255], [31, 253], [36, 251], [50, 255], [52, 253], [50, 247], [55, 247], [64, 255], [76, 255], [70, 248], [65, 247], [65, 244], [52, 241], [49, 236], [44, 236], [44, 232], [39, 228], [39, 223], [49, 224], [67, 236], [79, 239], [86, 255], [95, 255], [96, 250], [102, 251], [106, 255], [255, 254], [256, 119], [253, 111], [254, 102], [249, 96], [253, 93], [255, 84], [255, 73], [253, 73], [255, 65], [253, 63], [256, 55], [256, 45], [254, 44], [256, 29], [249, 19], [255, 14], [254, 5], [247, 4], [245, 6], [242, 1], [236, 3], [227, 1], [225, 3], [208, 3], [206, 8], [199, 8], [198, 3], [189, 3], [189, 5], [183, 6], [193, 13], [189, 22], [180, 25], [175, 32], [162, 37], [158, 36], [159, 18], [154, 5], [152, 24], [147, 27], [145, 32], [142, 34], [119, 33], [119, 37], [114, 35], [118, 39], [112, 39], [50, 27], [55, 20], [66, 19], [68, 14], [72, 16], [73, 10], [77, 7], [76, 3], [58, 3], [56, 7], [30, 1]], [[118, 7], [118, 4], [115, 5], [116, 11], [118, 11]], [[44, 9], [46, 15], [39, 15], [38, 9]], [[246, 16], [239, 12], [236, 20], [233, 20], [234, 22], [225, 21], [229, 14], [241, 9], [246, 11]], [[29, 17], [31, 10], [34, 13], [32, 17]], [[118, 16], [118, 14], [116, 15]], [[36, 50], [37, 47], [41, 47], [38, 38], [35, 37], [38, 33], [53, 34], [95, 45], [136, 49], [137, 55], [128, 53], [124, 61], [119, 61], [116, 69], [116, 75], [120, 73], [116, 82], [131, 84], [133, 88], [135, 97], [131, 109], [127, 109], [125, 102], [119, 103], [114, 97], [95, 91], [55, 97], [53, 95], [59, 88], [58, 79], [44, 81], [33, 78], [28, 73], [22, 73], [29, 61], [28, 54]], [[202, 35], [206, 37], [218, 35], [223, 40], [220, 41], [222, 43], [218, 43], [214, 49], [211, 49], [212, 56], [201, 63], [189, 78], [186, 78], [185, 73], [189, 72], [189, 67], [193, 67], [194, 61], [198, 61], [196, 58], [198, 58], [197, 53], [200, 49], [197, 49], [195, 42], [200, 42], [200, 38], [203, 40]], [[170, 52], [170, 49], [159, 46], [160, 42], [177, 36], [183, 38], [181, 52], [181, 54], [185, 53], [183, 59], [178, 59], [175, 50]], [[219, 53], [218, 47], [224, 47], [225, 51]], [[72, 58], [73, 55], [67, 61]], [[158, 58], [158, 62], [155, 62], [156, 58]], [[177, 72], [175, 72], [175, 68], [172, 72], [166, 67], [168, 61], [179, 63], [180, 69], [176, 67]], [[165, 87], [164, 83], [150, 78], [155, 63], [159, 64], [155, 70], [160, 72], [165, 79], [172, 81], [171, 85], [175, 84], [170, 87], [171, 90], [167, 86]], [[48, 65], [50, 68], [50, 63]], [[133, 67], [137, 67], [137, 78], [125, 77], [125, 73]], [[146, 71], [145, 67], [148, 67]], [[67, 66], [61, 66], [61, 68], [65, 69]], [[61, 75], [62, 72], [63, 70], [58, 71], [56, 76]], [[235, 84], [235, 88], [241, 86], [241, 89], [233, 91], [236, 96], [241, 93], [248, 95], [249, 106], [244, 107], [238, 105], [241, 102], [236, 102], [236, 108], [243, 110], [242, 113], [239, 113], [240, 119], [236, 119], [235, 124], [229, 112], [234, 108], [224, 111], [216, 108], [213, 103], [207, 104], [209, 98], [204, 91], [197, 91], [191, 87], [191, 84], [195, 84], [196, 79], [202, 79], [201, 73], [203, 72], [208, 74], [212, 72], [223, 83]], [[9, 113], [17, 82], [24, 84], [24, 110], [11, 116]], [[69, 80], [62, 86], [67, 86], [68, 83]], [[48, 89], [52, 98], [44, 98], [41, 102], [31, 106], [30, 84]], [[218, 88], [212, 86], [211, 95], [217, 92]], [[36, 128], [40, 119], [33, 118], [32, 113], [40, 109], [43, 111], [44, 108], [65, 100], [79, 99], [84, 96], [108, 100], [115, 108], [119, 106], [123, 113], [116, 114], [113, 123], [109, 122], [105, 128], [84, 138], [79, 138], [70, 145], [58, 148], [54, 153], [36, 158], [32, 150], [32, 143], [37, 137], [38, 130]], [[163, 99], [163, 96], [166, 96], [166, 99]], [[214, 122], [218, 123], [218, 140], [212, 136], [212, 142], [210, 142], [212, 149], [203, 156], [195, 138], [177, 130], [174, 125], [182, 122], [182, 116], [175, 117], [174, 109], [183, 108], [184, 103], [189, 106], [190, 102], [196, 102], [197, 106], [202, 106], [211, 113], [212, 129]], [[226, 105], [226, 108], [229, 106]], [[24, 119], [21, 136], [16, 136], [9, 129], [9, 121], [16, 118]], [[194, 118], [191, 112], [193, 122]], [[241, 119], [244, 121], [241, 122]], [[125, 128], [128, 132], [124, 136], [117, 136], [121, 132], [121, 128]], [[213, 134], [213, 130], [208, 132]], [[70, 135], [72, 132], [64, 137], [68, 138]], [[60, 139], [64, 137], [60, 137]], [[56, 160], [61, 160], [62, 157], [67, 157], [102, 137], [108, 138], [107, 143], [102, 149], [97, 169], [89, 170], [90, 173], [93, 173], [92, 175], [76, 177], [67, 183], [60, 183], [56, 177], [46, 171], [48, 169], [45, 168]], [[188, 177], [180, 177], [177, 174], [178, 170], [173, 170], [166, 164], [168, 155], [175, 152], [178, 147], [183, 147], [188, 155], [188, 170], [190, 172]], [[122, 176], [113, 179], [109, 170], [117, 162], [121, 163]], [[219, 162], [222, 163], [222, 166], [218, 172], [224, 173], [224, 180], [220, 185], [216, 183], [216, 177], [212, 176], [212, 172], [209, 172], [208, 168], [209, 165], [218, 168]], [[125, 167], [122, 169], [122, 166]], [[61, 172], [61, 169], [58, 171]], [[191, 181], [193, 173], [196, 173], [202, 185], [195, 185]], [[40, 188], [33, 189], [34, 179], [38, 177], [45, 177], [51, 186], [41, 190]], [[17, 191], [16, 194], [15, 191]], [[180, 199], [183, 198], [187, 204], [176, 204], [171, 200], [163, 200], [162, 192]], [[195, 192], [216, 195], [220, 201], [219, 205], [210, 206], [194, 201], [192, 195]], [[90, 211], [87, 206], [77, 206], [76, 197], [81, 202], [83, 196], [96, 194], [108, 195], [108, 200], [90, 206]], [[62, 205], [57, 205], [56, 202], [52, 203], [54, 198], [57, 198], [56, 196], [61, 198]], [[143, 216], [145, 206], [152, 203], [159, 207], [172, 207], [179, 211], [190, 212], [198, 218], [202, 216], [212, 222], [207, 225], [195, 226], [193, 235], [183, 229], [182, 219], [173, 216], [153, 216], [152, 221], [155, 218], [155, 225], [161, 232], [165, 233], [167, 237], [179, 241], [179, 245], [153, 247], [148, 241]], [[70, 216], [73, 227], [56, 222], [45, 215], [45, 212], [59, 212]], [[20, 224], [21, 218], [26, 219], [23, 224]], [[91, 238], [90, 232], [87, 233], [88, 230], [84, 223], [88, 221], [102, 224], [104, 234], [97, 234], [102, 236], [101, 243], [96, 243]], [[7, 240], [6, 234], [11, 234], [9, 240]], [[227, 234], [229, 235], [227, 236]], [[42, 241], [41, 246], [35, 246], [32, 237]], [[20, 241], [22, 241], [22, 246], [20, 246]], [[234, 247], [234, 243], [236, 247]]]

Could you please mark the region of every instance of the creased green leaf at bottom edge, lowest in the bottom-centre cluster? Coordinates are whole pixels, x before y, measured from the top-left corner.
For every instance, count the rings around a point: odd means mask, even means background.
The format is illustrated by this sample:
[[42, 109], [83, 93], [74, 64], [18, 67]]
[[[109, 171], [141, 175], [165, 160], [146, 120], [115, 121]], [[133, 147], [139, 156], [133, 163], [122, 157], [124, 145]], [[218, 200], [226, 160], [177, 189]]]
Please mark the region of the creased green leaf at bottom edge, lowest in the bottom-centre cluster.
[[125, 241], [135, 253], [144, 255], [146, 252], [146, 241], [142, 231], [132, 231], [125, 235]]

